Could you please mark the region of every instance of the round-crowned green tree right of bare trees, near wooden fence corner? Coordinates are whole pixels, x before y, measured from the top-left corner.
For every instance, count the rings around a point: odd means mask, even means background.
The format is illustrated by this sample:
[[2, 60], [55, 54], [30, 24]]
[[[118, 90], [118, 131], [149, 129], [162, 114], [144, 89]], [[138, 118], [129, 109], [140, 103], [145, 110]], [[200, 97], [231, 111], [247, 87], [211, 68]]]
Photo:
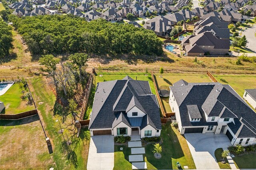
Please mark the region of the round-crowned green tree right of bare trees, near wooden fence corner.
[[75, 67], [78, 67], [79, 70], [79, 80], [82, 83], [83, 82], [83, 72], [82, 67], [86, 66], [86, 62], [88, 61], [88, 55], [84, 53], [75, 53], [74, 55], [70, 55], [68, 57], [70, 61], [72, 61], [72, 64], [74, 64]]

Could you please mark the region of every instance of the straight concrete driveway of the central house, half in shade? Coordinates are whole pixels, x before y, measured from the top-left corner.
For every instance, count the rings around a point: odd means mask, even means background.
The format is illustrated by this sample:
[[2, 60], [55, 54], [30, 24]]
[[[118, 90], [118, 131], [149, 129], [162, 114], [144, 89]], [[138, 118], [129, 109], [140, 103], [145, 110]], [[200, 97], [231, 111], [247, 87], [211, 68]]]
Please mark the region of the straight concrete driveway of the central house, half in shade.
[[91, 137], [87, 170], [112, 170], [114, 168], [114, 136]]

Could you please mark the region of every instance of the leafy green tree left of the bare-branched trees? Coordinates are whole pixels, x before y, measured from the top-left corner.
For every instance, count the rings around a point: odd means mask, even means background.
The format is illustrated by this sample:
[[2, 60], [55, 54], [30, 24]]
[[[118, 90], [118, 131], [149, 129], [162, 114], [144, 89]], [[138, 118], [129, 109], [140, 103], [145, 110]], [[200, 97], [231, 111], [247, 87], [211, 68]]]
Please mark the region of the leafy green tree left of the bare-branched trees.
[[47, 72], [49, 76], [53, 78], [54, 85], [56, 86], [56, 91], [58, 91], [58, 85], [56, 80], [56, 64], [60, 62], [60, 59], [54, 58], [53, 55], [43, 55], [39, 59], [39, 64], [44, 65], [45, 68], [40, 68], [41, 71]]

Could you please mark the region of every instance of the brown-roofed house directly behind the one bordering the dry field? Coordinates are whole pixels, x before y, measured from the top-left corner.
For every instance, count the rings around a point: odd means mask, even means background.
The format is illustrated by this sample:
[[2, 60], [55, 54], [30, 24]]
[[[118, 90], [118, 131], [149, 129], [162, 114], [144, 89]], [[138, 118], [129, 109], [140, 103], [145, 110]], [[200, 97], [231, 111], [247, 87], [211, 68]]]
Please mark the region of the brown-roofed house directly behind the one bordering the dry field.
[[205, 31], [210, 31], [213, 35], [220, 39], [229, 39], [230, 30], [228, 22], [220, 21], [218, 17], [210, 16], [204, 20], [200, 20], [194, 24], [194, 35], [198, 35]]

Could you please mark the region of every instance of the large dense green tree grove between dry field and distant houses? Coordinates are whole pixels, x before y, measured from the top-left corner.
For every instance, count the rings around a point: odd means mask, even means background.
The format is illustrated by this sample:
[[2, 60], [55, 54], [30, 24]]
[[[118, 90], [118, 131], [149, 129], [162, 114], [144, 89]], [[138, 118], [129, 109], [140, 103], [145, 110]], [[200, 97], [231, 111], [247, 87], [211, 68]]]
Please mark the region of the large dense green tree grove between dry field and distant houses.
[[9, 20], [23, 36], [33, 54], [122, 53], [161, 55], [162, 41], [156, 34], [132, 24], [102, 19], [87, 22], [70, 15], [22, 17]]

